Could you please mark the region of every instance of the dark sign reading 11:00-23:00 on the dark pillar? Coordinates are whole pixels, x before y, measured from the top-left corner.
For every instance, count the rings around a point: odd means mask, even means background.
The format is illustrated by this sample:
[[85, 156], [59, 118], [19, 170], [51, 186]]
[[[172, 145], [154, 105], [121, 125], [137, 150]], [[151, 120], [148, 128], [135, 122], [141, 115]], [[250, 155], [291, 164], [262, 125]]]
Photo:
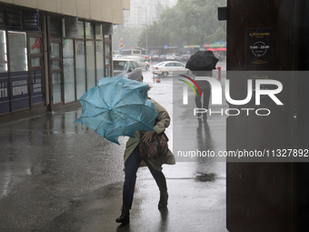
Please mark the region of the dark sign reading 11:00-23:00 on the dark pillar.
[[274, 29], [246, 29], [245, 31], [245, 65], [273, 66]]

